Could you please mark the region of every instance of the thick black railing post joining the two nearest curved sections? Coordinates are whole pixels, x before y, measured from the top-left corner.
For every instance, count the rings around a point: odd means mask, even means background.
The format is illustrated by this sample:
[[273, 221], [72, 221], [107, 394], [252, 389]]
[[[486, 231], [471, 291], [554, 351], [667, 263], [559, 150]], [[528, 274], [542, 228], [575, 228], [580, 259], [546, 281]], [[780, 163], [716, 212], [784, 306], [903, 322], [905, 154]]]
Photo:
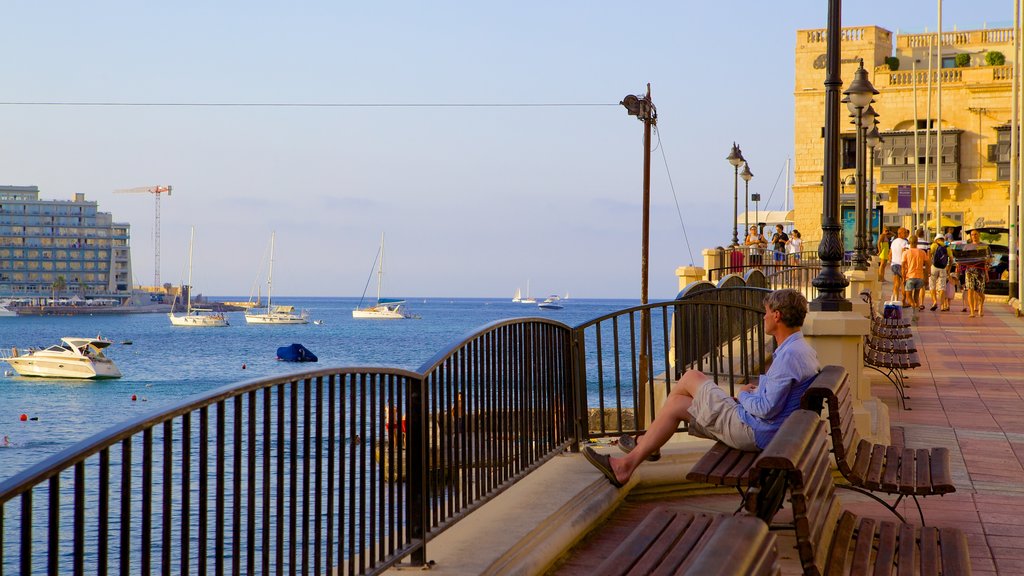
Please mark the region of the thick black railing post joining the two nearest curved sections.
[[427, 519], [430, 518], [427, 506], [430, 497], [427, 494], [427, 403], [426, 377], [421, 376], [409, 381], [409, 420], [407, 422], [407, 457], [409, 491], [409, 536], [412, 542], [420, 545], [413, 550], [413, 566], [425, 566], [427, 563]]

